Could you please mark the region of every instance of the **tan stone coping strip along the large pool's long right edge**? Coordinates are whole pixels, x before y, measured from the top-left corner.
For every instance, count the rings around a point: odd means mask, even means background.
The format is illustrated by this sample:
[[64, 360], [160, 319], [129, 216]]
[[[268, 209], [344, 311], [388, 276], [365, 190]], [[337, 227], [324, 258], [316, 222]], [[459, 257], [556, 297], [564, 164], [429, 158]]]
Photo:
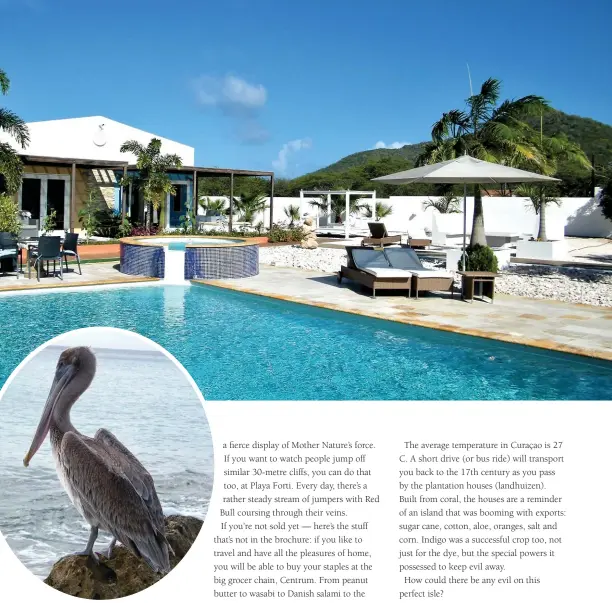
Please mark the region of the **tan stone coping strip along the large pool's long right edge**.
[[227, 282], [218, 281], [218, 280], [213, 281], [213, 280], [192, 279], [192, 282], [197, 285], [217, 287], [219, 289], [228, 289], [231, 291], [237, 291], [239, 293], [248, 293], [250, 295], [258, 295], [260, 297], [268, 297], [270, 299], [277, 299], [280, 301], [293, 302], [293, 303], [302, 304], [305, 306], [323, 308], [325, 310], [336, 310], [339, 312], [345, 312], [346, 314], [365, 316], [367, 318], [376, 318], [379, 320], [386, 320], [389, 322], [396, 322], [399, 324], [412, 325], [416, 327], [424, 327], [428, 329], [436, 329], [438, 331], [457, 333], [459, 335], [471, 335], [472, 337], [481, 337], [483, 339], [493, 339], [496, 341], [503, 341], [505, 343], [525, 345], [525, 346], [539, 348], [539, 349], [548, 350], [552, 352], [561, 352], [564, 354], [574, 354], [576, 356], [593, 358], [595, 360], [612, 361], [612, 352], [605, 352], [605, 351], [600, 352], [598, 350], [588, 350], [586, 348], [578, 348], [578, 347], [570, 346], [564, 343], [557, 343], [549, 339], [528, 339], [528, 338], [508, 335], [506, 333], [500, 333], [497, 331], [482, 331], [479, 329], [469, 329], [469, 328], [457, 327], [453, 325], [433, 323], [430, 321], [419, 320], [416, 318], [406, 318], [406, 317], [394, 318], [388, 315], [378, 314], [376, 312], [368, 312], [368, 311], [363, 311], [363, 310], [355, 310], [352, 308], [345, 308], [345, 307], [339, 306], [338, 304], [333, 304], [333, 303], [316, 302], [316, 301], [311, 301], [311, 300], [303, 299], [299, 297], [293, 297], [291, 295], [264, 293], [262, 291], [257, 291], [255, 289], [236, 287], [232, 283], [227, 283]]

